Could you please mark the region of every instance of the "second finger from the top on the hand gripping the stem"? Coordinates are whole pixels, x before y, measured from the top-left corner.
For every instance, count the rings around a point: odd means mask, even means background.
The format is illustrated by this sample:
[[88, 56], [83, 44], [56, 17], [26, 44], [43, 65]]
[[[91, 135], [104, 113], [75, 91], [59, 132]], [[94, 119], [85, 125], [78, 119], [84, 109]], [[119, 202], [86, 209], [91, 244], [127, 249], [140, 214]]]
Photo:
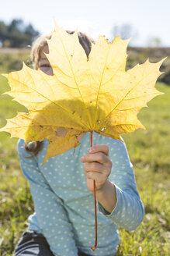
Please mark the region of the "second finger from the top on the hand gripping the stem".
[[81, 162], [99, 162], [101, 164], [104, 164], [108, 163], [109, 161], [109, 156], [105, 155], [102, 152], [87, 154], [81, 158]]

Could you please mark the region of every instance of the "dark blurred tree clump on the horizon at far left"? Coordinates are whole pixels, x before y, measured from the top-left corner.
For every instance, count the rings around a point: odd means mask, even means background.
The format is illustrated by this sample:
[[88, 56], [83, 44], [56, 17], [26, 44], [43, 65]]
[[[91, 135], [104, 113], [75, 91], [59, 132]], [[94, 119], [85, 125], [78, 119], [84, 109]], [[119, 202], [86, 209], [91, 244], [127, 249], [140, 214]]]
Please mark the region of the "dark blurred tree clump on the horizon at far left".
[[9, 24], [0, 20], [0, 46], [2, 47], [24, 48], [31, 45], [39, 34], [31, 23], [26, 25], [21, 19], [14, 19]]

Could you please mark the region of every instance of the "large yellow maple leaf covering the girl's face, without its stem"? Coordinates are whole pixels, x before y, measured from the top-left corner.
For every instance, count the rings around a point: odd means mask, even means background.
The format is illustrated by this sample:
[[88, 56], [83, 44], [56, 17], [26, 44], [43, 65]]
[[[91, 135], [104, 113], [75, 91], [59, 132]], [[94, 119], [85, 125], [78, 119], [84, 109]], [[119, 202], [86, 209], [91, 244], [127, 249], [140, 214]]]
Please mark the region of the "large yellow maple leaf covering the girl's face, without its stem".
[[[47, 138], [46, 162], [76, 148], [80, 144], [78, 134], [95, 131], [120, 140], [120, 133], [144, 128], [137, 113], [147, 101], [161, 94], [154, 84], [164, 59], [157, 63], [147, 60], [126, 71], [128, 42], [115, 37], [111, 44], [99, 37], [87, 59], [77, 32], [68, 34], [55, 24], [47, 40], [47, 59], [54, 75], [24, 64], [22, 70], [4, 75], [11, 86], [7, 94], [29, 112], [8, 119], [0, 131], [26, 142]], [[57, 133], [61, 127], [66, 131], [64, 136]]]

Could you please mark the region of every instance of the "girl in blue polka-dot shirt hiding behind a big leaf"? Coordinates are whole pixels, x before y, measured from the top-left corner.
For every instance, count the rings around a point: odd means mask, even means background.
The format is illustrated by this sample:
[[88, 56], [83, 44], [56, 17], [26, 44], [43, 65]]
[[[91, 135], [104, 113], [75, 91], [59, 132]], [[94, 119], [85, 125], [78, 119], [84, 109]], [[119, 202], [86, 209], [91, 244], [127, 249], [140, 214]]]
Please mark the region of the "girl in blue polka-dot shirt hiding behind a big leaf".
[[[68, 31], [69, 34], [73, 32]], [[45, 53], [47, 38], [33, 44], [35, 69], [53, 75]], [[78, 33], [88, 57], [91, 38]], [[64, 136], [64, 129], [57, 130]], [[144, 206], [137, 192], [134, 172], [125, 144], [98, 133], [78, 136], [81, 144], [63, 155], [49, 158], [42, 166], [48, 140], [26, 144], [18, 142], [21, 169], [29, 181], [35, 212], [16, 247], [16, 255], [101, 255], [113, 256], [119, 241], [118, 226], [134, 230], [144, 218]], [[95, 180], [98, 216], [98, 246], [95, 241], [93, 180]]]

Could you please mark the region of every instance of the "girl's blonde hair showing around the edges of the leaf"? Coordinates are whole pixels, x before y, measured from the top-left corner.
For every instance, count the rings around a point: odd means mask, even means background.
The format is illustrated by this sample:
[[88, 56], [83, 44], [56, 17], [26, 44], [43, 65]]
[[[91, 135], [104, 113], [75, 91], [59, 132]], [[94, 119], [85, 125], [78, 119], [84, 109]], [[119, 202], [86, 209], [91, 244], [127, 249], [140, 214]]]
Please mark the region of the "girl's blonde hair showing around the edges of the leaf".
[[[71, 30], [66, 30], [68, 34], [74, 34], [75, 31]], [[36, 41], [33, 42], [32, 46], [32, 51], [31, 51], [31, 61], [33, 63], [33, 68], [38, 69], [39, 68], [39, 62], [40, 62], [40, 54], [41, 50], [43, 47], [47, 45], [47, 39], [50, 39], [52, 34], [47, 34], [47, 35], [41, 35], [36, 39]], [[91, 48], [92, 48], [92, 43], [94, 44], [95, 41], [91, 38], [88, 37], [86, 34], [82, 32], [78, 32], [78, 39], [80, 44], [82, 44], [82, 48], [84, 48], [85, 53], [88, 57]], [[43, 141], [33, 141], [25, 144], [26, 151], [33, 152], [33, 155], [37, 155], [38, 152], [42, 149], [43, 147]], [[31, 156], [32, 157], [32, 156]]]

